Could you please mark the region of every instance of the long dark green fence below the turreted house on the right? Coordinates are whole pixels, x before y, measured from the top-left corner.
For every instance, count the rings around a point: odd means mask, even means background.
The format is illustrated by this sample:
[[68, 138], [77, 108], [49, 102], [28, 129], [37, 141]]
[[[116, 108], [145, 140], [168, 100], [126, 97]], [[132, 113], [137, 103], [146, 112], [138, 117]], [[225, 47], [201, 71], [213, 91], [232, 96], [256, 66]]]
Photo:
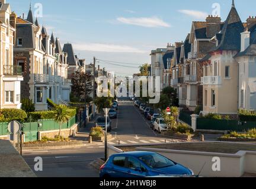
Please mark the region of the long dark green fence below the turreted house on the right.
[[239, 122], [238, 120], [197, 119], [197, 129], [214, 131], [244, 132], [256, 128], [256, 122]]

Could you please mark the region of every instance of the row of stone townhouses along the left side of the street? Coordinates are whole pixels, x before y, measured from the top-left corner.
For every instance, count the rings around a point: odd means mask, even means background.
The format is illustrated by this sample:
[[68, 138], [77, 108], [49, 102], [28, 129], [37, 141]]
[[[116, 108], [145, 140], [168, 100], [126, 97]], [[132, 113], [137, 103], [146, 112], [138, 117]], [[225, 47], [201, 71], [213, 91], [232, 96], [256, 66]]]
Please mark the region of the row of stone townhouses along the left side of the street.
[[20, 109], [24, 98], [33, 100], [36, 110], [48, 109], [47, 98], [69, 102], [72, 74], [85, 70], [72, 44], [62, 48], [59, 38], [34, 19], [31, 6], [24, 19], [0, 0], [0, 24], [0, 109]]

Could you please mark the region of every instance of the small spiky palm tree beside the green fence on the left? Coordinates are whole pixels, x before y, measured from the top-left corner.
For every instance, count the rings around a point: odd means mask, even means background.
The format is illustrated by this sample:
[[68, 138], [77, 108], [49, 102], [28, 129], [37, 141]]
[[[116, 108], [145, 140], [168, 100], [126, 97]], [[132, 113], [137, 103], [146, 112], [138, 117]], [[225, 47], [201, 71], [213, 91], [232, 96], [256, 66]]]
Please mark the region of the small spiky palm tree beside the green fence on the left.
[[53, 119], [56, 123], [59, 123], [59, 137], [62, 130], [62, 124], [68, 123], [71, 116], [69, 116], [68, 107], [65, 105], [56, 105], [53, 107], [54, 116]]

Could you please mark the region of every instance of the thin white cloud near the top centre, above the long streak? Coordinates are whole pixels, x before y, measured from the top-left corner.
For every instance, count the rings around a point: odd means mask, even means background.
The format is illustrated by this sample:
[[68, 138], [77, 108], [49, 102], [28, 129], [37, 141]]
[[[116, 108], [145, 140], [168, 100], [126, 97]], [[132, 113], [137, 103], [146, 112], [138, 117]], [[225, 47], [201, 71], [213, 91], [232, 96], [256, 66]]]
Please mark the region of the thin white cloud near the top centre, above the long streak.
[[123, 24], [129, 24], [129, 25], [139, 25], [142, 27], [148, 27], [148, 28], [159, 28], [159, 27], [171, 27], [167, 22], [164, 22], [162, 19], [158, 17], [139, 17], [139, 18], [124, 18], [119, 17], [117, 18], [117, 21], [123, 23]]

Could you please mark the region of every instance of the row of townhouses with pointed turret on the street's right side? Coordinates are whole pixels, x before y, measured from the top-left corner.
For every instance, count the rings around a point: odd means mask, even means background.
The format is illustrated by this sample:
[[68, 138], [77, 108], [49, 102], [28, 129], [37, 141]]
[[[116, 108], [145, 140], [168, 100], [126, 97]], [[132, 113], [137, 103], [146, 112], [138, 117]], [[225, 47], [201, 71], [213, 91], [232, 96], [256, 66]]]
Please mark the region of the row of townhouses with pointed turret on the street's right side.
[[180, 106], [203, 114], [256, 110], [256, 17], [242, 22], [235, 4], [226, 21], [193, 21], [184, 41], [151, 53], [151, 76], [177, 89]]

